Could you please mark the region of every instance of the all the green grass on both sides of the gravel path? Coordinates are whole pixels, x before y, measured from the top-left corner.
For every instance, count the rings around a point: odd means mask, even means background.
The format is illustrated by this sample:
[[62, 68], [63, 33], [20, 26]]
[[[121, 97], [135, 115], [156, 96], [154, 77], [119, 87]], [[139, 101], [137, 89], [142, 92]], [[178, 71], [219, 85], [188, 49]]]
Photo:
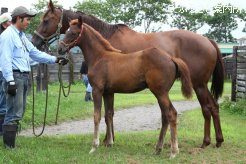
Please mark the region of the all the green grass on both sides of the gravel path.
[[[57, 102], [58, 85], [50, 86], [48, 123], [53, 124]], [[224, 96], [230, 95], [230, 82], [225, 84]], [[83, 101], [84, 87], [76, 84], [72, 87], [68, 98], [63, 98], [59, 121], [81, 119], [92, 115], [92, 103]], [[195, 97], [195, 96], [194, 96]], [[43, 115], [44, 96], [37, 97], [36, 116], [41, 122]], [[144, 100], [142, 100], [143, 98]], [[180, 94], [179, 82], [171, 91], [173, 101], [183, 100]], [[117, 94], [116, 109], [144, 104], [156, 103], [152, 94], [145, 90], [137, 94]], [[195, 98], [194, 98], [195, 99]], [[25, 127], [30, 126], [31, 102], [28, 100], [27, 113], [24, 117]], [[212, 143], [206, 149], [199, 146], [203, 139], [203, 117], [199, 110], [185, 112], [179, 117], [178, 140], [180, 154], [169, 160], [170, 133], [167, 132], [164, 149], [157, 156], [153, 155], [159, 131], [115, 133], [115, 144], [112, 148], [100, 145], [93, 155], [88, 152], [91, 148], [92, 134], [17, 137], [18, 148], [10, 151], [0, 147], [0, 163], [246, 163], [246, 118], [232, 115], [229, 111], [221, 110], [221, 123], [225, 143], [221, 148], [215, 148], [215, 137], [211, 127]], [[102, 142], [104, 134], [101, 134]]]

